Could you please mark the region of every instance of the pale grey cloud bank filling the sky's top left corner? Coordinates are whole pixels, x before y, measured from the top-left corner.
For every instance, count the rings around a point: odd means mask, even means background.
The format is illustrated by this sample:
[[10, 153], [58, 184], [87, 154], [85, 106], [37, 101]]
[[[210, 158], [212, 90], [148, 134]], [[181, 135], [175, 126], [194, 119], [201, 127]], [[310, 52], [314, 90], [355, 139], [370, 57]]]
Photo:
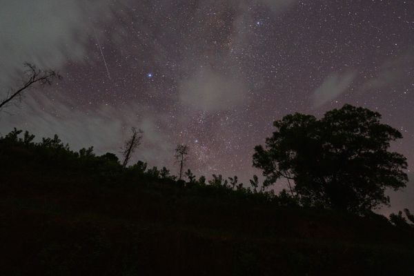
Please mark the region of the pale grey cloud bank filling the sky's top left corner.
[[24, 62], [59, 70], [68, 60], [82, 61], [92, 28], [99, 28], [98, 22], [111, 21], [115, 16], [110, 3], [109, 0], [2, 1], [1, 86], [10, 86]]

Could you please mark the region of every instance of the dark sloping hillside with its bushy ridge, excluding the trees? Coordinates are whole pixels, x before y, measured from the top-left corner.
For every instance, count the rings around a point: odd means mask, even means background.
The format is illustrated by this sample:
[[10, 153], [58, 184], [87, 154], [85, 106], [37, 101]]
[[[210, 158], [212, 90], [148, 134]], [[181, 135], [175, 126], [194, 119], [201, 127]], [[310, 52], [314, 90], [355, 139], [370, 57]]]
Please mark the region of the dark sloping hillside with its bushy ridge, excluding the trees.
[[368, 208], [312, 204], [297, 187], [275, 195], [258, 177], [246, 188], [236, 176], [184, 175], [10, 132], [0, 139], [0, 275], [414, 273], [402, 213], [391, 224]]

